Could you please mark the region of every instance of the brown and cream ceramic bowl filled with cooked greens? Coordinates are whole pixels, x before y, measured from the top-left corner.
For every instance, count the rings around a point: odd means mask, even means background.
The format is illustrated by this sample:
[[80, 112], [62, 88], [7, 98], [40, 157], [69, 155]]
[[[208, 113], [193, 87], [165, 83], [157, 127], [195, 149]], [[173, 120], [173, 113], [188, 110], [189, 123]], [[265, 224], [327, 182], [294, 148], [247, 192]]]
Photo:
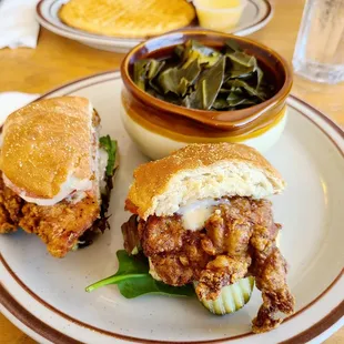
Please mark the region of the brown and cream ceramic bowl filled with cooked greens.
[[193, 142], [266, 152], [284, 130], [292, 72], [247, 38], [185, 29], [149, 39], [121, 64], [121, 120], [151, 159]]

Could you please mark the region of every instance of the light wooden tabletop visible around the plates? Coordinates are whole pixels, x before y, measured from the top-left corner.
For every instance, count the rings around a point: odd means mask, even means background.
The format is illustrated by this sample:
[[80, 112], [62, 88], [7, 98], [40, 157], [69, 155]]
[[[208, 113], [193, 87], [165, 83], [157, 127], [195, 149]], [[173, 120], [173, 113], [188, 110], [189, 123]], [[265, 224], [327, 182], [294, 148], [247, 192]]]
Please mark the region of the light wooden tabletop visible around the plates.
[[[271, 22], [251, 34], [292, 60], [303, 0], [275, 0]], [[117, 69], [123, 54], [94, 50], [41, 29], [37, 49], [0, 50], [0, 92], [43, 93], [61, 83], [92, 73]], [[293, 94], [310, 102], [344, 127], [344, 83], [325, 85], [295, 77]], [[0, 343], [34, 343], [0, 314]], [[344, 328], [326, 344], [344, 343]]]

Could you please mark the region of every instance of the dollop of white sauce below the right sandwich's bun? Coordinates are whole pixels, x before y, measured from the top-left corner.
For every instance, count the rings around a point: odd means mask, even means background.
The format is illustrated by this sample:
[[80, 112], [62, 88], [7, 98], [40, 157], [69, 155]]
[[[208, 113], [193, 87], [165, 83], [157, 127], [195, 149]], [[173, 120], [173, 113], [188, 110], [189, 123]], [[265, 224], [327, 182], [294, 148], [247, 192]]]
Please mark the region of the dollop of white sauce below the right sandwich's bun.
[[229, 202], [226, 199], [204, 199], [180, 208], [178, 214], [182, 215], [183, 227], [185, 230], [198, 231], [204, 226], [205, 221], [213, 213], [214, 206]]

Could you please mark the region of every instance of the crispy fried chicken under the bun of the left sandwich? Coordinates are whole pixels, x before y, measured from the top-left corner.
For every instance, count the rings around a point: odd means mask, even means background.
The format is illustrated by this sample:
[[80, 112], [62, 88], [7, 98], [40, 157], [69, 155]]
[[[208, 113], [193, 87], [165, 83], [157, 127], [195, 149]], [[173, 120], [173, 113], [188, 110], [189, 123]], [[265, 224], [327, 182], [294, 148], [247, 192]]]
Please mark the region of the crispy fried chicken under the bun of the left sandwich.
[[60, 202], [51, 206], [40, 206], [27, 203], [22, 208], [19, 226], [28, 233], [39, 235], [53, 256], [62, 257], [92, 226], [99, 211], [99, 203], [92, 196], [74, 204]]

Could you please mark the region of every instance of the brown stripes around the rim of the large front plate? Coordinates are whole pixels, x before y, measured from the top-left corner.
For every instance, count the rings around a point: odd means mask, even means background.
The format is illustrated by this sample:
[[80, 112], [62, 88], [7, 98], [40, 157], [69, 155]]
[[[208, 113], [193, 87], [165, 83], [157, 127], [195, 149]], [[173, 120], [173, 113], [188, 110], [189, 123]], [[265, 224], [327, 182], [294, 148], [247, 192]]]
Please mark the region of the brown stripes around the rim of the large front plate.
[[[71, 87], [73, 84], [78, 84], [78, 83], [82, 83], [89, 79], [98, 79], [101, 77], [105, 77], [105, 75], [110, 75], [111, 78], [107, 78], [94, 81], [92, 84], [88, 84], [88, 85], [83, 85], [77, 89], [73, 89], [71, 91], [69, 91], [67, 94], [75, 92], [80, 89], [83, 89], [85, 87], [90, 87], [90, 85], [94, 85], [94, 84], [99, 84], [99, 83], [103, 83], [105, 81], [109, 80], [118, 80], [121, 79], [121, 73], [120, 71], [117, 70], [111, 70], [111, 71], [105, 71], [105, 72], [100, 72], [100, 73], [95, 73], [95, 74], [91, 74], [84, 78], [80, 78], [77, 80], [72, 80], [70, 82], [67, 82], [60, 87], [53, 88], [50, 91], [43, 93], [40, 98], [38, 98], [38, 100], [40, 99], [44, 99], [47, 97], [49, 97], [52, 93], [55, 93], [60, 90], [63, 90], [68, 87]], [[300, 98], [295, 97], [295, 95], [290, 95], [289, 97], [290, 102], [295, 103], [295, 105], [290, 104], [289, 105], [295, 110], [297, 110], [300, 113], [302, 113], [304, 115], [304, 118], [306, 118], [307, 120], [310, 120], [317, 129], [320, 129], [327, 139], [331, 140], [331, 142], [334, 144], [334, 146], [336, 148], [336, 150], [338, 151], [338, 153], [343, 156], [344, 159], [344, 149], [342, 149], [337, 142], [335, 141], [334, 138], [332, 138], [328, 132], [323, 129], [318, 123], [316, 123], [316, 121], [314, 121], [313, 119], [311, 119], [310, 117], [307, 117], [305, 113], [303, 113], [303, 111], [301, 109], [297, 108], [299, 107], [305, 107], [308, 109], [308, 111], [312, 111], [314, 114], [316, 114], [318, 118], [321, 118], [322, 120], [324, 120], [332, 129], [334, 129], [341, 139], [344, 139], [344, 131], [334, 122], [332, 121], [328, 117], [326, 117], [324, 113], [322, 113], [320, 110], [315, 109], [314, 107], [310, 105], [307, 102], [301, 100]], [[38, 296], [34, 292], [32, 292], [20, 279], [19, 276], [16, 275], [16, 273], [11, 270], [11, 267], [8, 265], [8, 263], [6, 262], [6, 260], [3, 259], [2, 254], [0, 253], [0, 262], [3, 265], [3, 267], [10, 273], [11, 277], [26, 291], [27, 294], [29, 294], [30, 296], [32, 296], [36, 301], [38, 301], [39, 303], [41, 303], [45, 308], [53, 311], [55, 314], [58, 314], [59, 316], [64, 317], [65, 320], [89, 328], [89, 330], [93, 330], [95, 332], [98, 332], [99, 334], [102, 335], [108, 335], [108, 336], [112, 336], [119, 340], [124, 340], [124, 341], [131, 341], [131, 342], [140, 342], [140, 343], [175, 343], [175, 342], [162, 342], [162, 341], [155, 341], [155, 340], [146, 340], [146, 338], [139, 338], [139, 337], [131, 337], [128, 335], [122, 335], [122, 334], [117, 334], [107, 330], [102, 330], [95, 326], [92, 326], [90, 324], [83, 323], [79, 320], [73, 318], [72, 316], [64, 314], [62, 311], [57, 310], [55, 307], [51, 306], [49, 303], [47, 303], [44, 300], [42, 300], [40, 296]], [[293, 314], [292, 316], [287, 317], [285, 320], [289, 321], [291, 318], [293, 318], [296, 315], [300, 315], [301, 313], [303, 313], [304, 311], [306, 311], [308, 307], [311, 307], [312, 305], [314, 305], [314, 303], [316, 303], [317, 301], [320, 301], [325, 294], [327, 294], [327, 292], [343, 277], [344, 275], [344, 267], [342, 269], [342, 271], [338, 273], [338, 275], [331, 282], [331, 284], [322, 292], [320, 293], [313, 301], [311, 301], [307, 305], [305, 305], [303, 308], [299, 310], [295, 314]], [[22, 306], [19, 301], [17, 301], [14, 299], [14, 296], [12, 294], [10, 294], [10, 292], [4, 287], [4, 285], [2, 283], [0, 283], [0, 304], [2, 304], [2, 306], [10, 313], [12, 314], [19, 322], [21, 322], [23, 325], [30, 327], [31, 330], [33, 330], [36, 333], [38, 333], [39, 335], [41, 335], [43, 338], [51, 341], [53, 343], [81, 343], [78, 340], [74, 340], [68, 335], [65, 335], [64, 333], [59, 332], [58, 330], [51, 327], [49, 324], [44, 323], [42, 320], [38, 318], [36, 315], [33, 315], [32, 313], [30, 313], [30, 311], [28, 311], [27, 308], [24, 308], [24, 306]], [[295, 334], [294, 336], [285, 340], [283, 343], [287, 343], [287, 344], [292, 344], [292, 343], [304, 343], [307, 341], [311, 341], [315, 337], [317, 337], [318, 335], [321, 335], [322, 333], [324, 333], [325, 331], [327, 331], [330, 327], [332, 327], [334, 324], [336, 324], [341, 317], [344, 315], [344, 301], [340, 302], [336, 306], [334, 306], [330, 313], [327, 313], [326, 315], [324, 315], [318, 322], [316, 322], [315, 324], [313, 324], [312, 326], [305, 328], [304, 331]], [[34, 325], [32, 325], [34, 324]], [[250, 333], [244, 333], [241, 335], [236, 335], [236, 336], [232, 336], [232, 337], [224, 337], [224, 338], [216, 338], [216, 340], [211, 340], [211, 341], [190, 341], [188, 343], [219, 343], [219, 342], [224, 342], [224, 341], [233, 341], [233, 340], [239, 340], [241, 337], [246, 337], [246, 336], [251, 336], [253, 335], [252, 332]]]

